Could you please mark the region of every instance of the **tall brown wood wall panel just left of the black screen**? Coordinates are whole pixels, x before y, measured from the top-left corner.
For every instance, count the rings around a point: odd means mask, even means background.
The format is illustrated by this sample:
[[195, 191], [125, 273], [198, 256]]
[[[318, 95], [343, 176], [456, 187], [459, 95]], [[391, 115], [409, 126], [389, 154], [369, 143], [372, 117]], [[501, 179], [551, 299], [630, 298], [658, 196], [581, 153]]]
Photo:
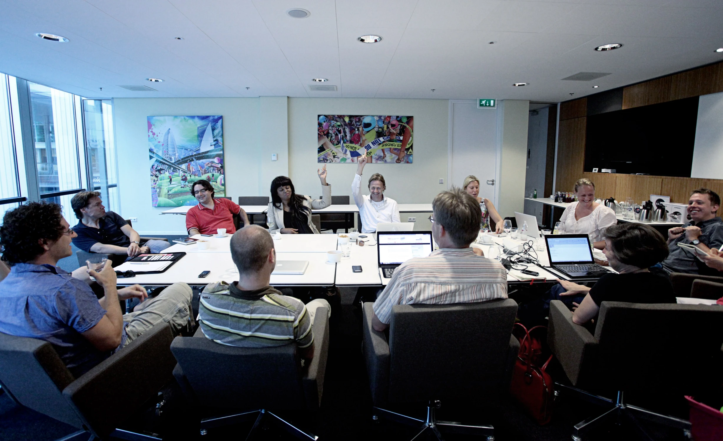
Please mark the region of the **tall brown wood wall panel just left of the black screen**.
[[557, 138], [557, 179], [555, 181], [557, 191], [573, 191], [575, 181], [583, 175], [586, 128], [586, 117], [560, 121], [560, 134]]

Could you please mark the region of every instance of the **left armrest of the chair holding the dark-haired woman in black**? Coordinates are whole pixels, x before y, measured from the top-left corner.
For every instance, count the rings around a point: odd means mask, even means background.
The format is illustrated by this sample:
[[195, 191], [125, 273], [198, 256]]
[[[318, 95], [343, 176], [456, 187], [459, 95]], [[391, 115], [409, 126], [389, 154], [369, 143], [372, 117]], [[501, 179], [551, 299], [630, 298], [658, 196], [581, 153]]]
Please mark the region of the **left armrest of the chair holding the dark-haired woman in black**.
[[573, 313], [560, 300], [549, 302], [547, 344], [560, 361], [570, 383], [578, 385], [594, 367], [597, 340], [584, 327], [573, 323]]

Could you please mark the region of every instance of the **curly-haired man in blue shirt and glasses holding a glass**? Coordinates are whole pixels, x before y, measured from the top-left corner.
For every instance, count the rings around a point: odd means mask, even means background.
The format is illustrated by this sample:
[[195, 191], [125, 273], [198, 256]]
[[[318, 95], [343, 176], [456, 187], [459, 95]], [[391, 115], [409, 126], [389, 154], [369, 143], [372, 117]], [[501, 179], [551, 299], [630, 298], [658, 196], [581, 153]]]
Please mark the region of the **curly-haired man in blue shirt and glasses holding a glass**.
[[[58, 204], [31, 202], [7, 211], [0, 245], [10, 274], [0, 281], [0, 332], [48, 341], [77, 378], [157, 323], [168, 323], [174, 333], [193, 323], [187, 284], [147, 298], [137, 284], [116, 289], [111, 261], [97, 272], [57, 267], [72, 254], [73, 237]], [[103, 287], [100, 300], [90, 289], [90, 276]], [[124, 315], [119, 300], [134, 297], [140, 305]]]

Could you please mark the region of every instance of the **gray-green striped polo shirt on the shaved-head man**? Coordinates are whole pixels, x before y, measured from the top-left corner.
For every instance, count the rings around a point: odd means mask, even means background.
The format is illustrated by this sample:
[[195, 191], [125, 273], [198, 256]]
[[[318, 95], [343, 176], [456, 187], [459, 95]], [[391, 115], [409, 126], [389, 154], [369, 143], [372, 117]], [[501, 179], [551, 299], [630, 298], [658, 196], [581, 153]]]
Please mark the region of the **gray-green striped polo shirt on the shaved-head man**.
[[206, 338], [228, 346], [262, 348], [296, 342], [306, 348], [314, 343], [304, 303], [271, 286], [241, 291], [235, 281], [208, 284], [201, 293], [198, 315]]

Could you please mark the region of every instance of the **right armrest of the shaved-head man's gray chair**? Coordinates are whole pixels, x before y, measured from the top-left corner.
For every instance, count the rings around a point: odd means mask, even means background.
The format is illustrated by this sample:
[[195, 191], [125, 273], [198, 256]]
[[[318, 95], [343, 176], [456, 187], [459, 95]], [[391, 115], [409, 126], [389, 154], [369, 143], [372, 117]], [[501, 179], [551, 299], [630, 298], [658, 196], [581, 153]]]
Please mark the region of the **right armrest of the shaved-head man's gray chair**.
[[329, 313], [325, 307], [317, 308], [314, 318], [314, 357], [308, 362], [301, 383], [304, 385], [304, 396], [307, 398], [308, 409], [319, 409], [324, 392], [326, 362], [329, 356]]

